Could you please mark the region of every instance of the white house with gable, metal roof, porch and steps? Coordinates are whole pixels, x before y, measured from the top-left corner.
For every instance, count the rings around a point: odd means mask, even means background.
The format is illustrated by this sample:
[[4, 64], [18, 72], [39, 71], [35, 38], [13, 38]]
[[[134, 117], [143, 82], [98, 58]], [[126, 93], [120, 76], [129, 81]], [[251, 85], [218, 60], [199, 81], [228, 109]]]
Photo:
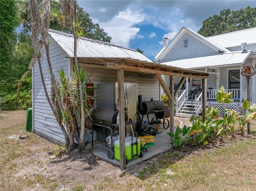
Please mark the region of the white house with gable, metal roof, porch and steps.
[[[215, 101], [220, 86], [233, 93], [234, 103], [228, 109], [239, 111], [243, 99], [247, 98], [246, 77], [241, 75], [245, 65], [255, 67], [256, 64], [256, 28], [229, 32], [227, 34], [203, 37], [193, 30], [182, 27], [168, 44], [164, 39], [164, 47], [156, 55], [160, 64], [209, 72], [206, 80], [206, 105], [218, 107]], [[174, 79], [174, 85], [179, 78]], [[165, 76], [166, 85], [169, 77]], [[202, 91], [197, 79], [186, 79], [179, 97], [177, 97], [177, 116], [189, 117], [191, 113], [201, 111]], [[256, 102], [256, 76], [250, 77], [250, 101]], [[196, 109], [191, 109], [194, 104]]]

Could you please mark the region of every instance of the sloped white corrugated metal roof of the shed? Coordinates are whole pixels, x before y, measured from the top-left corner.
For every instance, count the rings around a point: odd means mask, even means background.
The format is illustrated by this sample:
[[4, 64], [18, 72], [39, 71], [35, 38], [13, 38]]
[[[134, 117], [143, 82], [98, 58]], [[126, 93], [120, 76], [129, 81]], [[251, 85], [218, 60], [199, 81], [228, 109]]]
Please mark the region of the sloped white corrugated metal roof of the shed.
[[[74, 57], [73, 35], [51, 29], [49, 34], [70, 57]], [[146, 56], [133, 49], [84, 37], [78, 40], [77, 57], [123, 57], [152, 62]]]

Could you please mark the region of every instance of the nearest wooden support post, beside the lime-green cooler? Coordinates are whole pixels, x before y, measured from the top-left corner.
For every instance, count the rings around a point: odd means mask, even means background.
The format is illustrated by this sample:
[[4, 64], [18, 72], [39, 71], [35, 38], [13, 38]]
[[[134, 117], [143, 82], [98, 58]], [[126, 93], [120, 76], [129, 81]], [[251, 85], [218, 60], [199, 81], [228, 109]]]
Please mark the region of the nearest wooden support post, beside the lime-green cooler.
[[125, 118], [124, 118], [124, 70], [117, 70], [118, 82], [118, 113], [119, 113], [119, 146], [120, 146], [120, 168], [126, 169], [125, 163]]

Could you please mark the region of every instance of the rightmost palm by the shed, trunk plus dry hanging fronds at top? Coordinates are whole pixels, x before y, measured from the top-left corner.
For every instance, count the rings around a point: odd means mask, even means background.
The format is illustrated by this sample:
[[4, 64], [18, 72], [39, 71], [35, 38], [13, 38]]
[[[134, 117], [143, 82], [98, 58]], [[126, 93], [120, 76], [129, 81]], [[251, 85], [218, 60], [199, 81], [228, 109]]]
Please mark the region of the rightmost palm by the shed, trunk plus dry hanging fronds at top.
[[77, 71], [79, 96], [80, 96], [80, 101], [81, 101], [81, 104], [80, 104], [80, 106], [81, 106], [81, 132], [80, 132], [80, 136], [79, 136], [78, 148], [79, 148], [79, 151], [82, 151], [82, 150], [86, 150], [86, 146], [84, 143], [85, 110], [84, 110], [84, 99], [83, 99], [83, 88], [82, 88], [81, 76], [78, 72], [79, 69], [78, 69], [78, 63], [77, 63], [77, 32], [75, 29], [77, 1], [76, 0], [62, 0], [61, 4], [62, 4], [63, 14], [70, 21], [70, 26], [71, 26], [72, 33], [74, 36], [74, 64], [75, 64], [75, 69]]

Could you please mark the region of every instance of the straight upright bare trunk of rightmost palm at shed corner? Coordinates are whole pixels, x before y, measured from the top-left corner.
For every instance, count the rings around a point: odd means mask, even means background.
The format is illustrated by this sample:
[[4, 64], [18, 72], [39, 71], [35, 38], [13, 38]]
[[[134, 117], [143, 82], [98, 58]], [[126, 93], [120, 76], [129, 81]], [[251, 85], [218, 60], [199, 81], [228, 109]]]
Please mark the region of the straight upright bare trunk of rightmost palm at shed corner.
[[[72, 18], [71, 15], [70, 15], [70, 18]], [[76, 53], [77, 53], [77, 37], [76, 37], [76, 31], [74, 28], [74, 21], [71, 21], [70, 24], [71, 24], [72, 32], [74, 35], [74, 63], [75, 63], [75, 68], [76, 68], [76, 72], [77, 72], [78, 88], [79, 88], [79, 95], [80, 95], [80, 102], [81, 102], [81, 130], [80, 130], [80, 136], [79, 136], [78, 149], [79, 149], [79, 151], [83, 151], [83, 150], [86, 150], [86, 146], [84, 143], [84, 136], [85, 136], [84, 96], [83, 96], [82, 82], [81, 82], [81, 78], [80, 78], [78, 63], [77, 63], [77, 55], [76, 55]]]

